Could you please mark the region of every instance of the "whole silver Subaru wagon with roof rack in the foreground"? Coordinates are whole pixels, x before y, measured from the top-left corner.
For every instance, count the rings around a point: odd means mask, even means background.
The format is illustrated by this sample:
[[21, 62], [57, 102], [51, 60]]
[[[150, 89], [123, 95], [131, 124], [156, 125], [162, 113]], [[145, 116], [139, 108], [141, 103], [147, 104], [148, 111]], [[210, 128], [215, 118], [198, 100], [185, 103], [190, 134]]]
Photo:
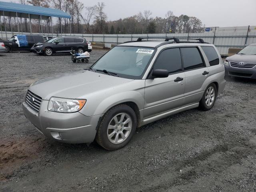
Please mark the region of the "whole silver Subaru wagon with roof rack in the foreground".
[[25, 116], [48, 138], [125, 146], [136, 127], [184, 110], [210, 110], [222, 92], [224, 66], [213, 44], [169, 41], [119, 44], [88, 70], [32, 84]]

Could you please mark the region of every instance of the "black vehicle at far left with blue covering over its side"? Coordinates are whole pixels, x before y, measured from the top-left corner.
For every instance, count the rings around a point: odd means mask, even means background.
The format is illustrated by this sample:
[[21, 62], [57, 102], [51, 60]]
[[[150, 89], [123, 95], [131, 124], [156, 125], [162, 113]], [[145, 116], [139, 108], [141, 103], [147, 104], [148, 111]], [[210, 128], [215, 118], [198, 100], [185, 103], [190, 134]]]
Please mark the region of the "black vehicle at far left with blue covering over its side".
[[6, 52], [30, 51], [30, 48], [38, 42], [44, 42], [41, 35], [14, 35], [9, 40], [0, 40], [4, 43]]

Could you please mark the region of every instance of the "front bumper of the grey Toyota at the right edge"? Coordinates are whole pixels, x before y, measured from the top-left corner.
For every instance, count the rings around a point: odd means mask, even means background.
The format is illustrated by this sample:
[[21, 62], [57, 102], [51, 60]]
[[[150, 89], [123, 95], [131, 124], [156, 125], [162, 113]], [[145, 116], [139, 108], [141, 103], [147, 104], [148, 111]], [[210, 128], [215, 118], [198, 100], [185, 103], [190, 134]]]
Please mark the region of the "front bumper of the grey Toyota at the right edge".
[[226, 74], [234, 77], [256, 79], [256, 67], [251, 69], [231, 67], [224, 65]]

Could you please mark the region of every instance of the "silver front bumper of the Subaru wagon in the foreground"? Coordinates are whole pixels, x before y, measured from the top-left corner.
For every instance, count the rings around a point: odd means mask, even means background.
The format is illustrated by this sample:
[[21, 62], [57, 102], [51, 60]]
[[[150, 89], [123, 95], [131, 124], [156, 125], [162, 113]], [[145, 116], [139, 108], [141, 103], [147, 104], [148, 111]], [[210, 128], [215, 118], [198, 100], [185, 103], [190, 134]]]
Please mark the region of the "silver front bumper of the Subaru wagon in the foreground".
[[42, 100], [38, 113], [25, 101], [22, 102], [22, 108], [26, 118], [46, 137], [73, 144], [93, 142], [101, 116], [48, 111], [48, 100]]

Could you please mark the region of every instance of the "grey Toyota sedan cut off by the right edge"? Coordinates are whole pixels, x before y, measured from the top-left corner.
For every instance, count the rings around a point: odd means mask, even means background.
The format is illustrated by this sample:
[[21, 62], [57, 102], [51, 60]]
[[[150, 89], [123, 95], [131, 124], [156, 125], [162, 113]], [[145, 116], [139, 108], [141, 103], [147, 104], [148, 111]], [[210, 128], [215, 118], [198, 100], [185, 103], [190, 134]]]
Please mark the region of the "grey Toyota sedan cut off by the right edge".
[[250, 44], [226, 58], [226, 75], [256, 79], [256, 44]]

